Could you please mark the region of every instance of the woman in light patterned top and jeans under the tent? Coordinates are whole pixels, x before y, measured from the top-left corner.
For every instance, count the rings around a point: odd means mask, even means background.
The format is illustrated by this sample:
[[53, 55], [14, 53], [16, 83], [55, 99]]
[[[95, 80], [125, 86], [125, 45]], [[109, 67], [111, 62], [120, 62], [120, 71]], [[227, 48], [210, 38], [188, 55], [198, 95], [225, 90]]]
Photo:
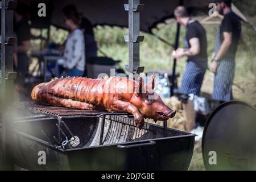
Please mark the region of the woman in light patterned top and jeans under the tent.
[[64, 49], [63, 76], [83, 76], [85, 68], [84, 35], [79, 29], [80, 16], [76, 11], [63, 11], [65, 24], [70, 30]]

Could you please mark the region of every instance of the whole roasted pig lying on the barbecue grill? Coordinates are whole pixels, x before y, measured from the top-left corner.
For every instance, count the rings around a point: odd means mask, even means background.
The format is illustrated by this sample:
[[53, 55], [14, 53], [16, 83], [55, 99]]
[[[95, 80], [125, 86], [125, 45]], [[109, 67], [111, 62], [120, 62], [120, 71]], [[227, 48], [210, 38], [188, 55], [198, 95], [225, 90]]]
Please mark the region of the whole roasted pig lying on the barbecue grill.
[[152, 74], [151, 81], [143, 86], [142, 78], [138, 82], [126, 77], [54, 78], [36, 85], [31, 97], [40, 104], [130, 113], [141, 129], [143, 118], [163, 121], [176, 113], [154, 93], [154, 80]]

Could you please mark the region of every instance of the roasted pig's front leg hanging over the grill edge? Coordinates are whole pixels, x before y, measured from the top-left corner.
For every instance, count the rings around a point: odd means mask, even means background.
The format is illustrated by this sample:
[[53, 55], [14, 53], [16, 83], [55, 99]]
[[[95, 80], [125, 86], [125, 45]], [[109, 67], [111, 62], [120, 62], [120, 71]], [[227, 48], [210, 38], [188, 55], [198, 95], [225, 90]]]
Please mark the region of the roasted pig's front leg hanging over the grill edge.
[[135, 124], [139, 129], [142, 129], [144, 125], [144, 118], [141, 112], [137, 107], [135, 107], [130, 102], [120, 101], [118, 100], [116, 104], [114, 104], [114, 109], [117, 111], [126, 111], [127, 113], [133, 114]]

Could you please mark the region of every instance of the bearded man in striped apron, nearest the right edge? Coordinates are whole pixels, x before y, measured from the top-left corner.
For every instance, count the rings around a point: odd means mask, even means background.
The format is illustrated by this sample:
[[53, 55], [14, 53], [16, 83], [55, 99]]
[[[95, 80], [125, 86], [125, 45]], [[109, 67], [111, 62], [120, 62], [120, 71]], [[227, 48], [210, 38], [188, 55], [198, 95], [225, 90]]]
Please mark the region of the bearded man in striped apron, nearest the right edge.
[[224, 15], [224, 19], [217, 31], [210, 71], [215, 74], [212, 98], [222, 103], [233, 99], [232, 84], [241, 22], [231, 9], [232, 0], [215, 0], [215, 3], [218, 13]]

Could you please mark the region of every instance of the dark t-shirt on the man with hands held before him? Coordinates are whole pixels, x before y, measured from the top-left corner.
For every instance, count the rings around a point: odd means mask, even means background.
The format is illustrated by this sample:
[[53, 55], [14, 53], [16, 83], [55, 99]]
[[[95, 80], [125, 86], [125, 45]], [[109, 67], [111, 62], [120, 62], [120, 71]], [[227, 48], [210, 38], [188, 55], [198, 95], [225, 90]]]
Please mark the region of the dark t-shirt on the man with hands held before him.
[[189, 44], [189, 40], [192, 38], [198, 38], [200, 43], [199, 54], [195, 56], [189, 56], [188, 59], [207, 60], [207, 37], [204, 27], [199, 22], [195, 21], [187, 25], [185, 38], [187, 39], [189, 48], [191, 47], [191, 45]]

